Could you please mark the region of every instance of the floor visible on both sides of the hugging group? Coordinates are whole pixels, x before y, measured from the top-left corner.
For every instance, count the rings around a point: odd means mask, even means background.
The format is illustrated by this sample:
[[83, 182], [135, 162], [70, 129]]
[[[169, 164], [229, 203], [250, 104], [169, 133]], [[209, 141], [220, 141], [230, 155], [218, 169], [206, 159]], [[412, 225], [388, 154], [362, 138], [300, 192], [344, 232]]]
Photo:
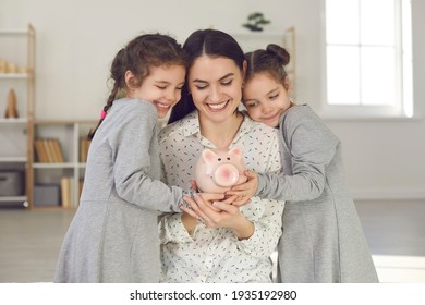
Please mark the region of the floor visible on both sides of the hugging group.
[[[425, 202], [359, 202], [380, 282], [425, 282]], [[51, 282], [72, 209], [0, 208], [0, 283]]]

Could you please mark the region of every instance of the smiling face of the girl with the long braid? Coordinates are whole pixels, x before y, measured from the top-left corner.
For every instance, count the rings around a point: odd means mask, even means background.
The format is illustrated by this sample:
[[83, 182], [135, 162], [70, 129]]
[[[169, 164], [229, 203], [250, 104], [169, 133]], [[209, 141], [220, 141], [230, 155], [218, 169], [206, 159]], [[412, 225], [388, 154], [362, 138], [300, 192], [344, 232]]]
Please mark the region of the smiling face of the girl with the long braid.
[[[151, 102], [158, 111], [158, 118], [165, 118], [168, 111], [180, 100], [186, 70], [182, 65], [151, 66], [150, 74], [142, 86], [129, 88], [129, 98], [138, 98]], [[134, 77], [127, 71], [125, 80]]]

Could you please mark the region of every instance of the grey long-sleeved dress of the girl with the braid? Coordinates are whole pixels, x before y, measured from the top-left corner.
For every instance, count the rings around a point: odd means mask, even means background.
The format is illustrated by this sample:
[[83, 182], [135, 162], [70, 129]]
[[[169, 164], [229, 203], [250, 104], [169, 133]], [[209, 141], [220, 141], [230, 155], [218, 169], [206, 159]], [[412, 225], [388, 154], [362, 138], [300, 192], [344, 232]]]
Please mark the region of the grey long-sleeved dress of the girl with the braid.
[[159, 181], [157, 111], [113, 102], [92, 141], [81, 203], [54, 282], [158, 282], [158, 211], [181, 211], [182, 191]]

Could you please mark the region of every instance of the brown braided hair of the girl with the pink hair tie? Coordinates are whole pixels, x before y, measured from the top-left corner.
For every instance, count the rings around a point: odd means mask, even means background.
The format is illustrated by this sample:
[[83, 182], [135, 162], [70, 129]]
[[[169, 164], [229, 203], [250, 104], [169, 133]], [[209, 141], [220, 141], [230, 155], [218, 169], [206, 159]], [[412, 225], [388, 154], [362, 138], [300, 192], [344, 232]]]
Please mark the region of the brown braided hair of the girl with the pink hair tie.
[[[187, 66], [187, 59], [180, 44], [170, 36], [162, 34], [145, 34], [131, 40], [124, 48], [118, 51], [110, 68], [110, 80], [113, 82], [112, 90], [104, 107], [108, 112], [118, 96], [126, 91], [125, 72], [131, 71], [134, 75], [131, 87], [139, 87], [149, 75], [150, 66], [183, 65]], [[92, 139], [101, 124], [100, 119], [96, 129], [92, 130], [87, 138]]]

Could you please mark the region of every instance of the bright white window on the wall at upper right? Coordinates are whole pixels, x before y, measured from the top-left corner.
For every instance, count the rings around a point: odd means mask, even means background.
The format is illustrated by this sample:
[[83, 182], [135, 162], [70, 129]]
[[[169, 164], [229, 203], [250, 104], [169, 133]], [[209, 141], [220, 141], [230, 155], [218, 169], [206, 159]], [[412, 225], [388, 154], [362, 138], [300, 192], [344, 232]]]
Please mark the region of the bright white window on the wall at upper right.
[[326, 0], [329, 114], [412, 117], [410, 0]]

